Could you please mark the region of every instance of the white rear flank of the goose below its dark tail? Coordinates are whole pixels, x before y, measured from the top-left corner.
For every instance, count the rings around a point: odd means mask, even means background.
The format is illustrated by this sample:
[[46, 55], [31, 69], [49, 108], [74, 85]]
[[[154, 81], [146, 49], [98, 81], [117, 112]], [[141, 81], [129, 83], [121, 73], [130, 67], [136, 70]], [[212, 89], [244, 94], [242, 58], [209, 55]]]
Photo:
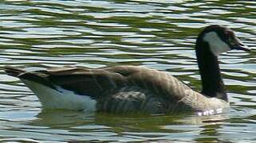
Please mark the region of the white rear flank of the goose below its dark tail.
[[73, 91], [68, 91], [61, 87], [57, 87], [57, 90], [54, 90], [41, 83], [26, 79], [22, 81], [37, 95], [45, 109], [96, 110], [96, 100], [91, 99], [89, 96], [76, 95]]

